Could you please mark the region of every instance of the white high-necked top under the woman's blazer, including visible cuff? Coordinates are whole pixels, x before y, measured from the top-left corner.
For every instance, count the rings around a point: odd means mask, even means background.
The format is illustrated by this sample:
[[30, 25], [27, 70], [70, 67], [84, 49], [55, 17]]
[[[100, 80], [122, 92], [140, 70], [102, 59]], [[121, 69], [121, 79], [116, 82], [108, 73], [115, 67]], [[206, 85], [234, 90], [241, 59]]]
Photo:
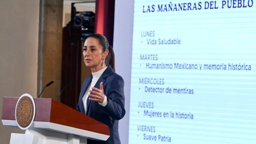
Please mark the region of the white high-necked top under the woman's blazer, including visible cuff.
[[[84, 96], [83, 96], [83, 103], [84, 103], [84, 111], [86, 113], [87, 111], [87, 99], [89, 97], [89, 90], [92, 90], [92, 88], [95, 86], [96, 82], [99, 80], [100, 76], [103, 74], [103, 72], [107, 69], [107, 67], [97, 71], [97, 72], [92, 72], [92, 82], [91, 84], [88, 86]], [[105, 95], [105, 98], [103, 100], [103, 103], [99, 103], [101, 106], [105, 107], [107, 104], [108, 104], [108, 101], [107, 101], [107, 97]]]

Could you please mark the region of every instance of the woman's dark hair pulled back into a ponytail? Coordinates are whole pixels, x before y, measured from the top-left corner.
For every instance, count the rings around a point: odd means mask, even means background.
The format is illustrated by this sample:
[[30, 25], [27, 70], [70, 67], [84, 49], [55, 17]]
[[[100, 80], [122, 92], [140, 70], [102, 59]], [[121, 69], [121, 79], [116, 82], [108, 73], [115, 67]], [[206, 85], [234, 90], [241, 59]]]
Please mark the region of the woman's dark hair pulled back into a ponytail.
[[98, 34], [98, 33], [92, 34], [87, 38], [89, 37], [96, 38], [99, 41], [99, 45], [103, 47], [103, 52], [106, 50], [109, 51], [108, 56], [105, 59], [105, 63], [106, 63], [106, 66], [110, 65], [113, 71], [115, 72], [115, 54], [112, 46], [109, 45], [108, 39], [104, 35]]

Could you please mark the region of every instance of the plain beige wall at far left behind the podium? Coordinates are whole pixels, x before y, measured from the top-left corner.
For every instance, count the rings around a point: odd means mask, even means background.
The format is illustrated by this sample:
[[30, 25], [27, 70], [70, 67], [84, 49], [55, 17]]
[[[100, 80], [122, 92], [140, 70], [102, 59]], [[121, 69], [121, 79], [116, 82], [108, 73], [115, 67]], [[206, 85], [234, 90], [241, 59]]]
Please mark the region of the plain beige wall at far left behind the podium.
[[[8, 0], [0, 4], [0, 115], [3, 97], [37, 94], [39, 0]], [[24, 132], [0, 123], [0, 143]]]

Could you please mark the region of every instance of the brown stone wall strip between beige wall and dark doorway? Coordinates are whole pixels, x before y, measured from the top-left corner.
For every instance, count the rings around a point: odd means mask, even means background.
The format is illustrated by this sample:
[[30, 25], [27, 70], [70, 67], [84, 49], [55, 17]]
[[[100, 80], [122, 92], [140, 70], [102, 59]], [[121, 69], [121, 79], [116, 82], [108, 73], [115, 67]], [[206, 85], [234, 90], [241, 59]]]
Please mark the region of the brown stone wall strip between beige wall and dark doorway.
[[[44, 25], [41, 25], [43, 37], [39, 47], [42, 57], [39, 58], [39, 85], [38, 92], [50, 81], [54, 83], [47, 87], [42, 93], [42, 98], [58, 99], [61, 91], [61, 62], [62, 62], [62, 9], [63, 0], [41, 0], [44, 4], [41, 8], [44, 13], [41, 14], [44, 19]], [[40, 84], [40, 83], [39, 83]]]

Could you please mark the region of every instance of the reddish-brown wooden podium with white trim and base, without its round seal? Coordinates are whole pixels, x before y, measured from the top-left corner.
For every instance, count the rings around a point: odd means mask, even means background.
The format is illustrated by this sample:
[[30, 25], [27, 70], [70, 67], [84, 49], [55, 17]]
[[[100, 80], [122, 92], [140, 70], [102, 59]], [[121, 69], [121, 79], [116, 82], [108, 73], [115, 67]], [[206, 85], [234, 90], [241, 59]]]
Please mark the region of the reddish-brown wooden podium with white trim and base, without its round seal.
[[[3, 97], [2, 123], [18, 128], [15, 108], [18, 97]], [[107, 125], [54, 99], [34, 98], [36, 113], [25, 134], [11, 134], [10, 144], [87, 144], [87, 139], [106, 141]]]

